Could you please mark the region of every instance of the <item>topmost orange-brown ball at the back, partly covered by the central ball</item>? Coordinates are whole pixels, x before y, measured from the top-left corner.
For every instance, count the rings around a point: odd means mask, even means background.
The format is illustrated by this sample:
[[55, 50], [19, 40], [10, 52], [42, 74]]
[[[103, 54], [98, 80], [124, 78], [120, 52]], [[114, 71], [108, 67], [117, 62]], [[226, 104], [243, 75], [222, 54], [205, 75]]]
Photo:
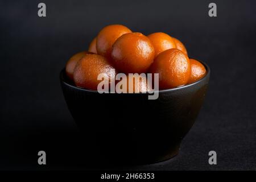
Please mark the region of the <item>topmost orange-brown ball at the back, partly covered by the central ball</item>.
[[112, 24], [102, 28], [98, 33], [96, 48], [99, 55], [111, 59], [112, 46], [120, 36], [130, 33], [131, 30], [121, 24]]

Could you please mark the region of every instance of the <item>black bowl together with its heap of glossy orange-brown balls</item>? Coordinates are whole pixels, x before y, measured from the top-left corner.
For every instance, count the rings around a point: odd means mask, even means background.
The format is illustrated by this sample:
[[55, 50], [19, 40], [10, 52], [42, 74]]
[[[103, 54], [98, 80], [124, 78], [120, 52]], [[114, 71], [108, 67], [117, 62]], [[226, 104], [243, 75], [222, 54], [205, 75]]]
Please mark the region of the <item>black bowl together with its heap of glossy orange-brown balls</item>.
[[[156, 163], [170, 159], [178, 154], [182, 139], [199, 114], [207, 92], [210, 69], [199, 60], [189, 59], [187, 50], [180, 46], [181, 42], [179, 47], [183, 51], [174, 48], [176, 44], [171, 36], [157, 34], [147, 38], [123, 27], [121, 30], [127, 32], [121, 31], [122, 35], [111, 40], [112, 45], [99, 46], [99, 52], [103, 52], [101, 55], [95, 53], [98, 42], [94, 40], [96, 48], [91, 48], [94, 52], [75, 56], [77, 63], [75, 67], [72, 65], [73, 72], [67, 69], [68, 64], [60, 72], [68, 109], [83, 134], [90, 158], [121, 164]], [[104, 31], [100, 32], [100, 44], [106, 40], [102, 38], [106, 36], [102, 33]], [[158, 36], [160, 43], [166, 38], [171, 48], [158, 43]], [[158, 50], [157, 56], [155, 49]], [[110, 72], [113, 69], [115, 71]], [[158, 97], [148, 99], [152, 92], [147, 88], [152, 89], [155, 85], [148, 86], [148, 82], [142, 79], [133, 80], [131, 85], [138, 85], [138, 90], [133, 88], [131, 93], [99, 93], [97, 75], [102, 72], [114, 85], [118, 81], [113, 78], [120, 72], [124, 75], [158, 73], [159, 89], [154, 90]], [[146, 87], [143, 86], [145, 84]], [[130, 89], [130, 85], [127, 88]]]

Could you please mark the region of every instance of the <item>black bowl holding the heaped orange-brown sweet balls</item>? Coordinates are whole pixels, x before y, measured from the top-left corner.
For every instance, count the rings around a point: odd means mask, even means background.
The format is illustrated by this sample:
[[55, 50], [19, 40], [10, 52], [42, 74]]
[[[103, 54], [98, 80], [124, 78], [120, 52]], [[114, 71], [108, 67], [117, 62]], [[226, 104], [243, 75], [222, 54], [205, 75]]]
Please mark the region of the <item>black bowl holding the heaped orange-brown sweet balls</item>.
[[[204, 63], [203, 63], [204, 64]], [[207, 92], [207, 75], [193, 84], [147, 93], [117, 94], [77, 88], [60, 72], [68, 109], [83, 134], [90, 159], [104, 162], [156, 163], [177, 155]], [[104, 160], [102, 160], [104, 159]]]

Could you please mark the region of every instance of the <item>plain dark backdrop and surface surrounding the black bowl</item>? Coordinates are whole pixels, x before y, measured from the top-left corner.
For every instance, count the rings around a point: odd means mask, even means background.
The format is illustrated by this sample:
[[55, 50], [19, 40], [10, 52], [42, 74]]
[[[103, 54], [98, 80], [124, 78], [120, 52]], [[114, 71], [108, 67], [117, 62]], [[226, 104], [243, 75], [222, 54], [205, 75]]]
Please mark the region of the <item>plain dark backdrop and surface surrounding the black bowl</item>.
[[[38, 17], [39, 2], [46, 3], [46, 18]], [[210, 2], [217, 4], [216, 18], [208, 16]], [[0, 169], [109, 168], [86, 164], [86, 143], [65, 104], [59, 72], [102, 27], [119, 23], [180, 39], [212, 74], [179, 155], [110, 168], [255, 170], [255, 7], [255, 1], [1, 1]], [[40, 150], [46, 166], [37, 163]], [[215, 166], [208, 164], [211, 150]]]

